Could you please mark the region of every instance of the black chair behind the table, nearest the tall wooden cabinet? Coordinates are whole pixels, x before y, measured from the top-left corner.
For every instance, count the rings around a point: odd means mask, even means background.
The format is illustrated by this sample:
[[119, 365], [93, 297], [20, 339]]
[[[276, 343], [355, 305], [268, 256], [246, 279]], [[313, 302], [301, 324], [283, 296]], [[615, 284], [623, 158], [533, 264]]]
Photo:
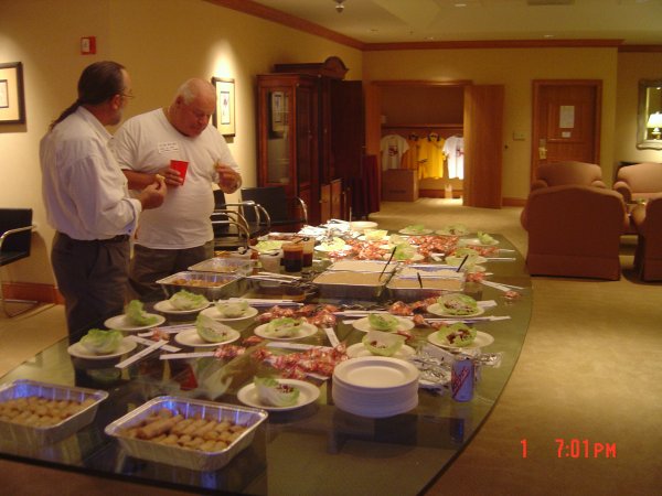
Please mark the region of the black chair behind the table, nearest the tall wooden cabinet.
[[[298, 196], [288, 198], [286, 191], [280, 186], [243, 187], [242, 201], [254, 202], [266, 211], [270, 227], [287, 230], [299, 230], [308, 224], [308, 206]], [[246, 219], [254, 222], [250, 212], [246, 212]]]

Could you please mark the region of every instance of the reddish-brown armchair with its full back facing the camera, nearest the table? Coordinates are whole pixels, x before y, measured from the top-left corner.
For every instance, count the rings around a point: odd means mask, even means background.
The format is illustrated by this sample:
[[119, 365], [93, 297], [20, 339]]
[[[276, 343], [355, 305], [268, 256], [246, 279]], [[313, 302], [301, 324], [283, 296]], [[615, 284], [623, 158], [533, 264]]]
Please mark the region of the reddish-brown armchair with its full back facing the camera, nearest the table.
[[532, 191], [522, 213], [530, 273], [620, 279], [620, 236], [628, 223], [615, 191], [585, 185]]

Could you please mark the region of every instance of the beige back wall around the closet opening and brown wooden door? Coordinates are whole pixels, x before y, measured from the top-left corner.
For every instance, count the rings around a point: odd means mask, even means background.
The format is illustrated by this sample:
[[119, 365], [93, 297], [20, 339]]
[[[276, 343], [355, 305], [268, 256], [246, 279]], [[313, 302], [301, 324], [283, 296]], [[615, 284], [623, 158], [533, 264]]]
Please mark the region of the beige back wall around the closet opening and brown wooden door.
[[[364, 80], [471, 79], [505, 87], [503, 197], [523, 200], [531, 169], [532, 82], [534, 79], [602, 80], [600, 164], [611, 174], [616, 99], [616, 48], [495, 48], [366, 52]], [[525, 140], [513, 140], [523, 132]]]

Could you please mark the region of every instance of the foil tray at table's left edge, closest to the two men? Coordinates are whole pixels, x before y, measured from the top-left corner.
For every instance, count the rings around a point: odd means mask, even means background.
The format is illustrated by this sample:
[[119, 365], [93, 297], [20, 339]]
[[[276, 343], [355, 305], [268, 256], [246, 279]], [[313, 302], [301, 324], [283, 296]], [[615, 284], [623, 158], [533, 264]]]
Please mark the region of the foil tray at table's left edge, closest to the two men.
[[243, 276], [213, 273], [202, 271], [182, 271], [157, 281], [166, 292], [166, 298], [185, 289], [196, 294], [204, 294], [207, 300], [222, 300], [239, 296], [246, 291]]

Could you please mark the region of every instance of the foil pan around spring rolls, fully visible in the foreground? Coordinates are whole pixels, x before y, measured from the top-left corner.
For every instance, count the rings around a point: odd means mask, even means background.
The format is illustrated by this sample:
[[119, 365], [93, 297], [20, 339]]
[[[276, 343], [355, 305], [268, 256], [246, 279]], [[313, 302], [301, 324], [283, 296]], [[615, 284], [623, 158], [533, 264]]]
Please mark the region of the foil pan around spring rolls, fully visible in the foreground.
[[[126, 438], [121, 431], [140, 424], [150, 414], [167, 408], [184, 418], [200, 416], [211, 420], [229, 420], [236, 424], [247, 425], [229, 446], [222, 451], [204, 452], [188, 450], [174, 445], [159, 444], [141, 439]], [[134, 457], [150, 462], [164, 463], [193, 471], [217, 471], [225, 466], [242, 450], [248, 448], [255, 436], [257, 427], [268, 417], [265, 410], [214, 401], [161, 396], [138, 407], [136, 410], [117, 419], [105, 429], [106, 434], [116, 438], [124, 450]]]

